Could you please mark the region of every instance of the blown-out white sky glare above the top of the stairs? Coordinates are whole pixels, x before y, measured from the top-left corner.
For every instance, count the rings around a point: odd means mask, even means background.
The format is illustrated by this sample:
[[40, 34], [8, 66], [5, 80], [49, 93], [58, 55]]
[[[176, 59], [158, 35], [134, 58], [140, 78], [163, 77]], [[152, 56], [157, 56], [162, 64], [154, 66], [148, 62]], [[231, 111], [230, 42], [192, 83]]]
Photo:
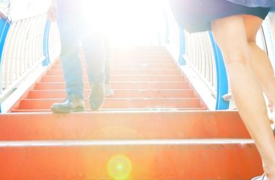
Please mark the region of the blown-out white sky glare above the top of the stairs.
[[157, 29], [163, 34], [164, 1], [87, 0], [83, 12], [91, 29], [107, 34], [112, 44], [148, 45], [157, 42]]

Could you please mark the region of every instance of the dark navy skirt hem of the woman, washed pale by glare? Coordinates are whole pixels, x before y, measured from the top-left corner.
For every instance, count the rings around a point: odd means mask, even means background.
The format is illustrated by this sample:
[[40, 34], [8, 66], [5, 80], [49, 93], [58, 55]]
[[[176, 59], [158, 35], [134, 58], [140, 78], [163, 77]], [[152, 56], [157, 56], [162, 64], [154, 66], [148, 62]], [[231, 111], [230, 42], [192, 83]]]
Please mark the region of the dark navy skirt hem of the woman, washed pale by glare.
[[198, 32], [211, 30], [211, 21], [237, 14], [265, 19], [270, 8], [251, 8], [225, 0], [170, 0], [170, 7], [182, 29]]

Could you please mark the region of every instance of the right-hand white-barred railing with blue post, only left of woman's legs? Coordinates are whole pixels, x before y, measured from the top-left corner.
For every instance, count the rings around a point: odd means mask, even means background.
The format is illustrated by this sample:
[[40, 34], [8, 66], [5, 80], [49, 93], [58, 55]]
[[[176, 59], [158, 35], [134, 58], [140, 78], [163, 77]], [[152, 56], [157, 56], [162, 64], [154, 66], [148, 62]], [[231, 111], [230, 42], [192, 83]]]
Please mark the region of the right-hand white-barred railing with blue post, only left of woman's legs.
[[[188, 65], [197, 77], [204, 83], [209, 97], [215, 99], [215, 107], [210, 103], [210, 110], [226, 110], [229, 103], [223, 100], [228, 93], [228, 79], [223, 57], [210, 32], [188, 34], [179, 29], [170, 9], [167, 9], [169, 20], [168, 50], [180, 65]], [[208, 99], [209, 100], [209, 99]], [[206, 100], [207, 101], [207, 100]], [[212, 100], [211, 100], [212, 101]]]

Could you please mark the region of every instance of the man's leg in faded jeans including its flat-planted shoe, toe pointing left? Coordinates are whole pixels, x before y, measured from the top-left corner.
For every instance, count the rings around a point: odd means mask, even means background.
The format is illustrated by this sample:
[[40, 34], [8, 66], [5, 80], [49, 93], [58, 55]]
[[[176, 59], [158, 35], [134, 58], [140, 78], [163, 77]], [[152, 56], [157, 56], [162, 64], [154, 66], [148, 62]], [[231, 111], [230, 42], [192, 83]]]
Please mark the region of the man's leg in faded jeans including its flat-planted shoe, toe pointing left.
[[74, 5], [57, 1], [57, 23], [61, 38], [61, 65], [67, 100], [54, 103], [53, 112], [83, 111], [83, 73], [79, 57], [78, 12]]

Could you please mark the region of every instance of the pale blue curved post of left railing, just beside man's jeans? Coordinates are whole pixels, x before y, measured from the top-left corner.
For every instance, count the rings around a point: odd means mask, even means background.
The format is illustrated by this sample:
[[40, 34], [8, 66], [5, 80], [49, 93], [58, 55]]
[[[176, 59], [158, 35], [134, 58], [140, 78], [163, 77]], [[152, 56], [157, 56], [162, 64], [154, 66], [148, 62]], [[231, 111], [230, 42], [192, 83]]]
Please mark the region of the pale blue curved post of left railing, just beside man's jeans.
[[49, 52], [49, 35], [50, 35], [51, 22], [46, 21], [44, 36], [43, 36], [43, 55], [45, 60], [43, 61], [43, 66], [50, 64], [50, 52]]

